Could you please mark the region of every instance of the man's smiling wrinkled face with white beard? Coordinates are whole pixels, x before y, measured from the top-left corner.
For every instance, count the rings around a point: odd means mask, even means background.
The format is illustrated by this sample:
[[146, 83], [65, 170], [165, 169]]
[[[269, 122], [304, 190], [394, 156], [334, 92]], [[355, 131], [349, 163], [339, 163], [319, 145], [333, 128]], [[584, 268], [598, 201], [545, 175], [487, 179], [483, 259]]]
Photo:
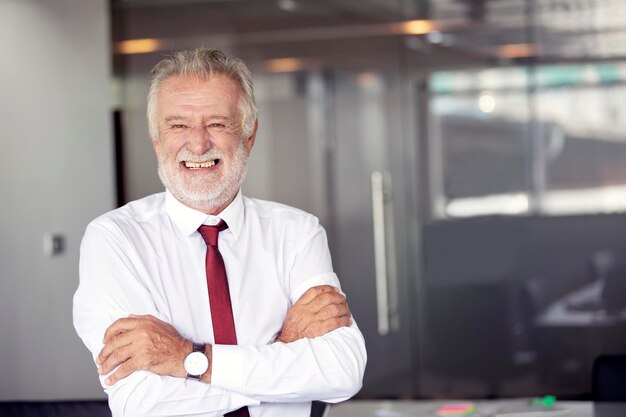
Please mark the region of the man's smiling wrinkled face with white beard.
[[218, 214], [237, 195], [256, 130], [242, 137], [239, 85], [224, 75], [175, 76], [157, 95], [159, 177], [178, 201]]

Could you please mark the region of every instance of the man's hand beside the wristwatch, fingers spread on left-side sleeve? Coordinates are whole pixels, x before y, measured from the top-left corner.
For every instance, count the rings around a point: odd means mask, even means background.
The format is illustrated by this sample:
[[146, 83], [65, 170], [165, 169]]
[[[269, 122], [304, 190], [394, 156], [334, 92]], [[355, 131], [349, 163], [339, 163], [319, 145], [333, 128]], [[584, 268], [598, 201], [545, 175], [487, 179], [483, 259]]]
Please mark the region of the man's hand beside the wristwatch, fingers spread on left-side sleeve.
[[119, 368], [105, 381], [113, 385], [137, 370], [184, 378], [183, 361], [192, 343], [168, 323], [153, 316], [119, 319], [106, 330], [104, 348], [96, 362], [98, 373], [106, 375]]

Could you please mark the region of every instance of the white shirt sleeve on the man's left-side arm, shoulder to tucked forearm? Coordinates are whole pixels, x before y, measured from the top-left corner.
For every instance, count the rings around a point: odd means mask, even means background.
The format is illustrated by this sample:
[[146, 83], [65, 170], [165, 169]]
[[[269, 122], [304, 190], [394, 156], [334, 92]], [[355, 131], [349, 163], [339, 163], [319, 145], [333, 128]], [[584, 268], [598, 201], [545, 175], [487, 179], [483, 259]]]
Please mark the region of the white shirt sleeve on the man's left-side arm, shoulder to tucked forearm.
[[[81, 243], [80, 283], [74, 295], [74, 327], [94, 359], [106, 329], [129, 314], [163, 320], [141, 282], [134, 248], [114, 224], [92, 223]], [[95, 371], [95, 370], [94, 370]], [[198, 381], [138, 371], [113, 386], [101, 384], [114, 417], [221, 416], [259, 401]]]

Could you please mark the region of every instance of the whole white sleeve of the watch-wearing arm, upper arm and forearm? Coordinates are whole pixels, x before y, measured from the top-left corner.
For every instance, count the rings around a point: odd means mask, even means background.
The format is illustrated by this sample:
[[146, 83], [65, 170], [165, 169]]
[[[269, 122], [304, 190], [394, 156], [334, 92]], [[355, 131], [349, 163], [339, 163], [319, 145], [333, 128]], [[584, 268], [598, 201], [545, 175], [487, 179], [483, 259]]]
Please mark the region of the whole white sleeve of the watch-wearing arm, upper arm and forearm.
[[[326, 233], [313, 216], [299, 219], [293, 241], [292, 304], [317, 285], [340, 287], [332, 272]], [[339, 402], [362, 386], [367, 362], [356, 322], [324, 336], [267, 346], [213, 346], [211, 383], [263, 402]]]

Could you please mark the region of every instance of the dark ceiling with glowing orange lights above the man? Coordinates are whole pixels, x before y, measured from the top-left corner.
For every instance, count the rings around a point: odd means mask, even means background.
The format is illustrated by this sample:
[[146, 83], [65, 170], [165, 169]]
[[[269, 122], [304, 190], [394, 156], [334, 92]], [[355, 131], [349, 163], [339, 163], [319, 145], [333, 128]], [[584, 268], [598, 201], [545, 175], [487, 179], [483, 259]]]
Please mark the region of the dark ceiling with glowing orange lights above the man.
[[[626, 58], [624, 0], [114, 0], [112, 11], [117, 45], [217, 45], [253, 66], [291, 58], [298, 69], [430, 71]], [[418, 19], [425, 30], [408, 26]]]

